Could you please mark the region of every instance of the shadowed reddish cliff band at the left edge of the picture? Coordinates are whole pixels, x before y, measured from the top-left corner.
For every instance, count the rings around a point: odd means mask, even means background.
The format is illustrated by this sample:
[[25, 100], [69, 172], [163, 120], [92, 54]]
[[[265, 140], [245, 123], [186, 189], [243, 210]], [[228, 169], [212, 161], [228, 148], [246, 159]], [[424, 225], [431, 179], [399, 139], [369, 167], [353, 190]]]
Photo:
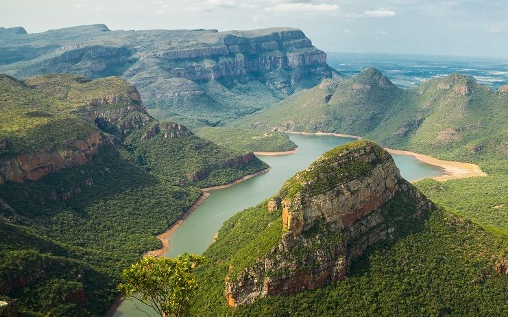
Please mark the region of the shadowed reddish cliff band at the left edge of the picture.
[[73, 150], [40, 150], [0, 161], [0, 184], [5, 180], [24, 182], [38, 180], [47, 174], [73, 165], [83, 165], [91, 161], [101, 146], [110, 143], [107, 137], [95, 130], [88, 137], [79, 140], [69, 140]]

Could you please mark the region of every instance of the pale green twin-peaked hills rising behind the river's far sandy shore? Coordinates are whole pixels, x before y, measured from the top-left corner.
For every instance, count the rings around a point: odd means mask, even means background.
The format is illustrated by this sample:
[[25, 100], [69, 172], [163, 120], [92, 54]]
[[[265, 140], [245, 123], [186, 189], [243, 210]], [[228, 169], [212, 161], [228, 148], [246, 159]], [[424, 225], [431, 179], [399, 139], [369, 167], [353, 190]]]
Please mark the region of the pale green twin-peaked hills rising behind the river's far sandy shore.
[[470, 160], [486, 152], [507, 156], [507, 98], [461, 74], [399, 89], [368, 68], [343, 82], [324, 80], [233, 125], [356, 134], [393, 148]]

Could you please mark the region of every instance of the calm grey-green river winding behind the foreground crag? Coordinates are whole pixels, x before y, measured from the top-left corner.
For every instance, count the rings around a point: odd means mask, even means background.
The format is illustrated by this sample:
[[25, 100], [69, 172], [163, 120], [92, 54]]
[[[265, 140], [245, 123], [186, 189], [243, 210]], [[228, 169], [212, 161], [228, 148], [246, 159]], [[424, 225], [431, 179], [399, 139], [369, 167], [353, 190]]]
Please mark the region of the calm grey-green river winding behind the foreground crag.
[[[225, 189], [210, 191], [210, 197], [204, 200], [169, 237], [171, 248], [165, 257], [176, 257], [184, 252], [203, 253], [213, 242], [213, 237], [223, 222], [232, 215], [273, 196], [287, 178], [307, 167], [322, 153], [337, 145], [354, 141], [345, 137], [304, 134], [289, 134], [289, 139], [298, 145], [298, 152], [281, 156], [260, 156], [272, 167], [271, 171]], [[409, 181], [444, 174], [441, 167], [423, 163], [413, 156], [400, 154], [392, 156], [402, 177]], [[143, 308], [145, 309], [146, 307]], [[147, 315], [137, 310], [132, 301], [123, 301], [113, 316]]]

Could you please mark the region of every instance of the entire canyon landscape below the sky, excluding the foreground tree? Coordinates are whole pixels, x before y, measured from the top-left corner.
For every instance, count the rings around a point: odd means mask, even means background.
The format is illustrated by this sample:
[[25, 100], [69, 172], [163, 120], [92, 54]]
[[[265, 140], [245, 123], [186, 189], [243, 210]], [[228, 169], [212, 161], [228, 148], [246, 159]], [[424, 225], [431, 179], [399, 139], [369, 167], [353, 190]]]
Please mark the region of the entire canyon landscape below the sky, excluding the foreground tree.
[[184, 253], [193, 316], [505, 316], [506, 64], [330, 56], [0, 27], [0, 316], [143, 316], [122, 271]]

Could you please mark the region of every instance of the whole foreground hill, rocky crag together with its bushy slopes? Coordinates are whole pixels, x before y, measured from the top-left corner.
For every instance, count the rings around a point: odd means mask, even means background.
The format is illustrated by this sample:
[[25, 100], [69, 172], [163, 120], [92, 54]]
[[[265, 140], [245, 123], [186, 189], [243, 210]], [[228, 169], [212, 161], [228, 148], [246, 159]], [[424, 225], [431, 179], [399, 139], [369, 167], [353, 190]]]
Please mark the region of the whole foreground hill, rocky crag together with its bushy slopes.
[[507, 252], [400, 178], [385, 150], [356, 141], [223, 225], [197, 270], [193, 312], [503, 316]]

